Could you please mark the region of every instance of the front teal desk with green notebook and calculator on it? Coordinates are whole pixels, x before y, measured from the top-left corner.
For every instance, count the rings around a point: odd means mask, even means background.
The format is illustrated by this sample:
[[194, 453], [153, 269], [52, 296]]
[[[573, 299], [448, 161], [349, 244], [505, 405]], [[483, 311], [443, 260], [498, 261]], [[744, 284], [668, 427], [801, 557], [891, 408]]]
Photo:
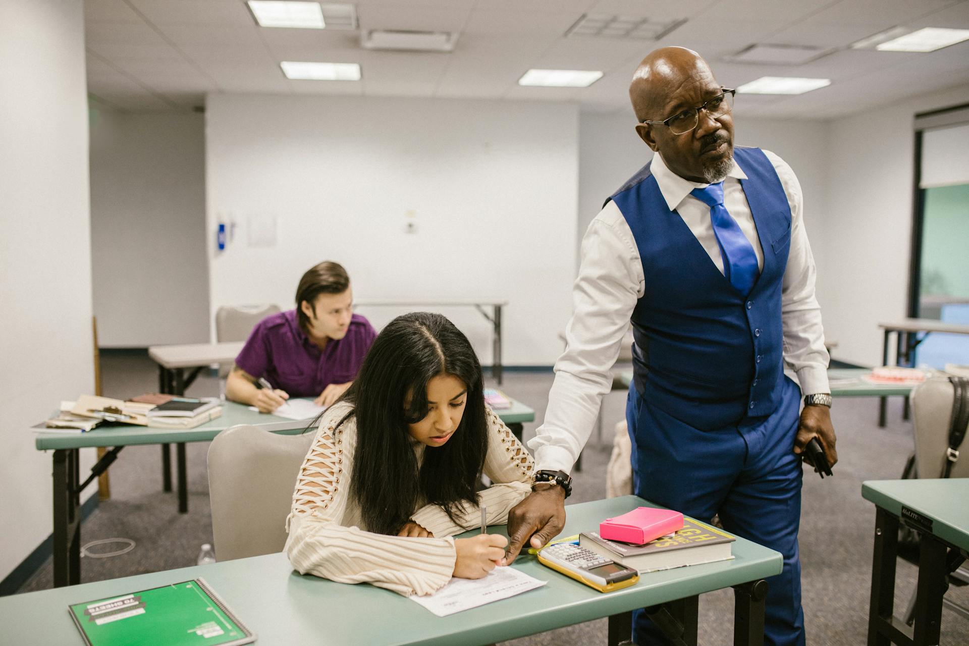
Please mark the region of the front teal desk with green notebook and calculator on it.
[[[644, 503], [626, 496], [569, 506], [564, 533], [594, 529], [603, 518]], [[614, 645], [629, 638], [629, 612], [647, 606], [661, 606], [661, 615], [678, 620], [682, 643], [696, 644], [697, 596], [730, 586], [736, 589], [734, 643], [762, 644], [760, 593], [763, 579], [781, 571], [781, 555], [742, 538], [734, 543], [734, 554], [732, 561], [644, 574], [635, 586], [606, 595], [526, 555], [513, 567], [547, 585], [448, 617], [436, 617], [411, 600], [370, 585], [300, 576], [285, 554], [269, 554], [5, 597], [0, 599], [0, 634], [14, 644], [79, 645], [69, 603], [202, 576], [257, 634], [257, 644], [474, 646], [610, 617], [609, 643]]]

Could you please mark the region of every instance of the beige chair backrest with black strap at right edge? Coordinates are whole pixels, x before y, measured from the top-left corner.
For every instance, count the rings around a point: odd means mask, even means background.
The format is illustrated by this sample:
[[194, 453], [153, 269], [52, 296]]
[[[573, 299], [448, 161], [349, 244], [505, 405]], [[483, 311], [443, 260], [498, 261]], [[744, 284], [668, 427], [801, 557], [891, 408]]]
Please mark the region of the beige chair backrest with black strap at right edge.
[[[942, 476], [946, 449], [949, 448], [954, 395], [953, 385], [945, 377], [927, 379], [912, 390], [915, 461], [919, 477]], [[969, 477], [969, 442], [963, 440], [959, 450], [962, 455], [953, 465], [950, 477]]]

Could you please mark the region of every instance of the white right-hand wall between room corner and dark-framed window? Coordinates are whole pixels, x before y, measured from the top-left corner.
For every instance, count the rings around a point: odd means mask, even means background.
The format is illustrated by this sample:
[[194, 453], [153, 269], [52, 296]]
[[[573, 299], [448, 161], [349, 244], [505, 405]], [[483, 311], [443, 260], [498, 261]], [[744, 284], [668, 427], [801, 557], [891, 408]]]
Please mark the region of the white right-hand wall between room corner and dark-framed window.
[[828, 132], [826, 267], [819, 273], [834, 355], [882, 360], [878, 323], [907, 316], [917, 112], [969, 102], [957, 87], [831, 122]]

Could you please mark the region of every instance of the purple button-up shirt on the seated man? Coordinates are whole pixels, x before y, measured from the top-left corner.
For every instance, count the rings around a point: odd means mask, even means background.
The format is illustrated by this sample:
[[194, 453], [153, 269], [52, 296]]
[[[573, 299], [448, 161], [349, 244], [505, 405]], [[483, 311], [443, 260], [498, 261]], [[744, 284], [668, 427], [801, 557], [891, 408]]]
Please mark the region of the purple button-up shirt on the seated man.
[[309, 340], [300, 329], [296, 310], [268, 316], [252, 330], [235, 365], [291, 397], [316, 397], [330, 384], [357, 378], [363, 355], [377, 336], [369, 321], [353, 315], [347, 334], [330, 339], [327, 347]]

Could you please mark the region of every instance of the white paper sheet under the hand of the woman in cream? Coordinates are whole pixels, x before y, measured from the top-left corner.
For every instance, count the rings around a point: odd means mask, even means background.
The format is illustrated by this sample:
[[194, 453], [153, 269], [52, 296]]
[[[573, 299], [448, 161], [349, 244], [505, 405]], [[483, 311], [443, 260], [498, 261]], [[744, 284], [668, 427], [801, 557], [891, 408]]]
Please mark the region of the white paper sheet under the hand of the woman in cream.
[[491, 601], [515, 597], [546, 584], [515, 568], [495, 568], [481, 579], [452, 578], [451, 581], [426, 597], [412, 595], [415, 600], [438, 617], [446, 617], [461, 610], [476, 608]]

